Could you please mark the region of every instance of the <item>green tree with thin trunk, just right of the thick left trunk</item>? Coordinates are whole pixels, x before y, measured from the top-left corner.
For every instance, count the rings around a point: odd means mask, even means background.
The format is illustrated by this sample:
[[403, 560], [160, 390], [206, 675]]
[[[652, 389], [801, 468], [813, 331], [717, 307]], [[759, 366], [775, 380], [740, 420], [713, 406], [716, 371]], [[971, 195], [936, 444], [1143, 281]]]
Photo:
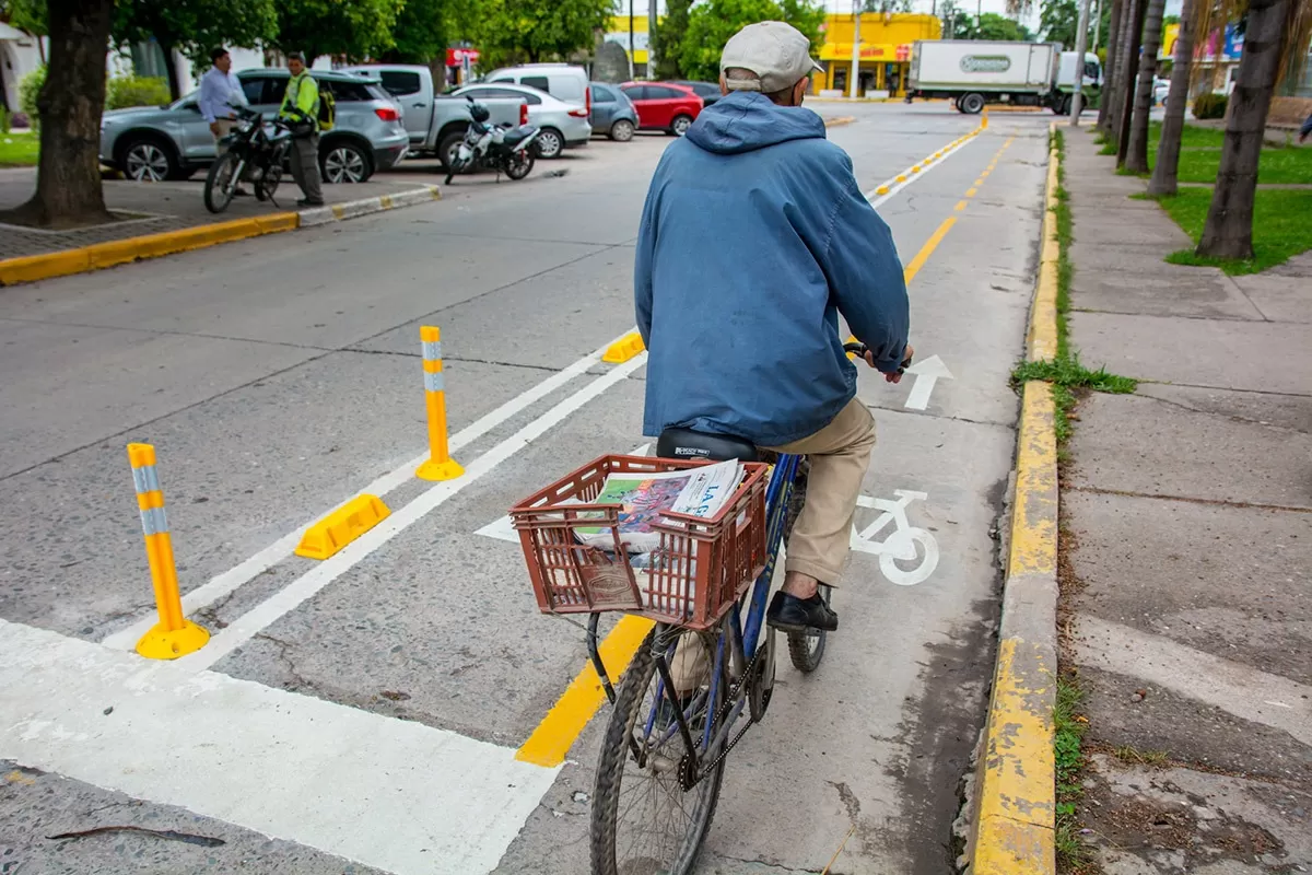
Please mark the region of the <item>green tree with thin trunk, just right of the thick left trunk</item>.
[[112, 41], [118, 46], [152, 37], [164, 51], [168, 88], [182, 96], [173, 51], [197, 67], [210, 66], [215, 46], [256, 47], [277, 33], [274, 0], [131, 0], [114, 9]]

